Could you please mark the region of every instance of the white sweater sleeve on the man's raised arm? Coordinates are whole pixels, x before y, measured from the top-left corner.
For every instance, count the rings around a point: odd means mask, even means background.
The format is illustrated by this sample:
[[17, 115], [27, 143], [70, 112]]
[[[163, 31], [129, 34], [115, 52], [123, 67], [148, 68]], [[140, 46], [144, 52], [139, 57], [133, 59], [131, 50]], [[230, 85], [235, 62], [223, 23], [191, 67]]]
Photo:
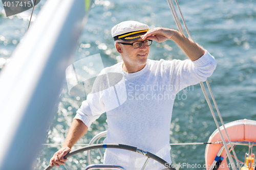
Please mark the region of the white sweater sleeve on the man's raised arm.
[[173, 60], [170, 65], [170, 84], [174, 86], [176, 94], [189, 85], [206, 81], [216, 68], [216, 61], [207, 51], [196, 61]]

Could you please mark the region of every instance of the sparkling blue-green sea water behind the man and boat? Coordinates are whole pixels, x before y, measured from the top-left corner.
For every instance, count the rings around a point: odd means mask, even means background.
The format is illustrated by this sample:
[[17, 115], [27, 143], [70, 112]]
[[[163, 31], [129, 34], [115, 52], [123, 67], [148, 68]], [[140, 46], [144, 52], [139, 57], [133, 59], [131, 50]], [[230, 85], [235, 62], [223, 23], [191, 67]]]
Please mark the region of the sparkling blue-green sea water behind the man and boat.
[[[36, 19], [46, 1], [41, 1], [32, 17]], [[256, 120], [256, 2], [255, 1], [178, 1], [193, 40], [202, 45], [217, 61], [214, 74], [208, 78], [224, 123], [238, 119]], [[0, 69], [3, 69], [27, 31], [32, 9], [5, 17], [0, 5]], [[165, 0], [158, 1], [103, 1], [96, 0], [82, 32], [74, 61], [100, 53], [104, 67], [122, 61], [115, 50], [111, 28], [125, 20], [146, 23], [151, 29], [176, 29], [174, 18]], [[90, 44], [90, 45], [81, 45]], [[148, 56], [153, 60], [187, 59], [171, 40], [153, 42]], [[0, 70], [1, 71], [1, 70]], [[205, 85], [206, 86], [206, 85]], [[178, 98], [178, 95], [180, 98]], [[217, 128], [199, 84], [181, 90], [174, 103], [170, 128], [170, 143], [207, 142]], [[208, 93], [209, 95], [209, 93]], [[183, 98], [181, 98], [183, 96]], [[49, 127], [41, 152], [35, 158], [34, 169], [44, 169], [52, 155], [61, 148], [77, 109], [84, 98], [69, 95], [63, 84], [58, 111]], [[77, 143], [89, 143], [94, 135], [108, 129], [105, 113], [89, 128]], [[79, 148], [81, 146], [75, 146]], [[243, 161], [247, 148], [235, 149]], [[173, 163], [199, 165], [180, 166], [180, 169], [205, 169], [205, 145], [173, 146]], [[82, 169], [87, 165], [84, 155], [69, 158], [69, 169]], [[100, 159], [96, 160], [100, 163]], [[178, 166], [177, 166], [178, 167]], [[64, 166], [55, 169], [65, 169]]]

